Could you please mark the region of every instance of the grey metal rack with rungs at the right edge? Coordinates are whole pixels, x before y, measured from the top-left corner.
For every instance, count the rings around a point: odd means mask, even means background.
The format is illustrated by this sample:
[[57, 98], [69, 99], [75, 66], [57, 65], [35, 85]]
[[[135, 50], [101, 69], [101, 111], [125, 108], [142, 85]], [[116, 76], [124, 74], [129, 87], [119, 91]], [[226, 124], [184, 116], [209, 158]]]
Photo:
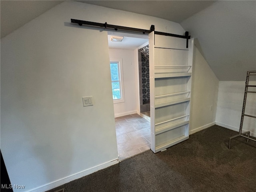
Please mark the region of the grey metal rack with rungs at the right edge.
[[[256, 85], [249, 85], [249, 77], [250, 76], [256, 76], [256, 71], [247, 71], [247, 75], [246, 75], [246, 82], [245, 82], [245, 90], [244, 90], [244, 102], [243, 102], [243, 108], [242, 108], [242, 115], [241, 115], [241, 122], [240, 122], [240, 128], [239, 128], [239, 134], [234, 135], [232, 137], [229, 138], [229, 144], [228, 144], [228, 148], [231, 148], [231, 140], [236, 138], [236, 137], [244, 137], [247, 139], [247, 142], [249, 142], [249, 140], [252, 141], [256, 141], [255, 139], [250, 138], [250, 131], [246, 131], [242, 133], [242, 127], [243, 127], [243, 122], [244, 122], [244, 116], [247, 117], [251, 117], [251, 118], [256, 118], [256, 116], [252, 116], [252, 115], [248, 115], [248, 114], [244, 114], [244, 110], [245, 110], [245, 105], [246, 105], [246, 98], [247, 98], [247, 93], [256, 93], [256, 91], [248, 91], [248, 87], [256, 87]], [[245, 136], [247, 135], [247, 136]]]

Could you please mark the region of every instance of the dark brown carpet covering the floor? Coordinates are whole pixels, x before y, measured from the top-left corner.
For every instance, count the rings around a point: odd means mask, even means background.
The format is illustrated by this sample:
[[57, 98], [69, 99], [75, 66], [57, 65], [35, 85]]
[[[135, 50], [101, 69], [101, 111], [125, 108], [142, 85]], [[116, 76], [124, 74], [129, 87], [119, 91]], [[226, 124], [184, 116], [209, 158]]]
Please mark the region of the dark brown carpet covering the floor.
[[68, 184], [65, 192], [256, 192], [256, 142], [220, 126], [190, 135], [164, 152], [151, 150]]

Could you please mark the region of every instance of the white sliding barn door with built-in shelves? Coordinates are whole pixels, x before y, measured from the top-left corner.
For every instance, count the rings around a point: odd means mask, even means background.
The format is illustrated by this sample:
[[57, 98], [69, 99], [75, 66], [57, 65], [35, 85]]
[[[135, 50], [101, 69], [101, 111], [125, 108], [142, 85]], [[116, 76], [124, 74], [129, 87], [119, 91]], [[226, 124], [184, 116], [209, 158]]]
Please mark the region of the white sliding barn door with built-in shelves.
[[193, 39], [149, 34], [151, 150], [189, 138]]

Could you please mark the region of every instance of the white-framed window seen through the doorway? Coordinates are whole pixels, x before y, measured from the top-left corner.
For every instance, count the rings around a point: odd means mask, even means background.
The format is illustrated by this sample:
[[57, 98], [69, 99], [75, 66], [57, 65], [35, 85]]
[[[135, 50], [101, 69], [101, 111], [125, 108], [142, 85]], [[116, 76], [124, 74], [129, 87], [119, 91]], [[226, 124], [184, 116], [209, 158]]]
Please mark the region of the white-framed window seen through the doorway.
[[124, 102], [122, 59], [110, 59], [112, 95], [114, 103]]

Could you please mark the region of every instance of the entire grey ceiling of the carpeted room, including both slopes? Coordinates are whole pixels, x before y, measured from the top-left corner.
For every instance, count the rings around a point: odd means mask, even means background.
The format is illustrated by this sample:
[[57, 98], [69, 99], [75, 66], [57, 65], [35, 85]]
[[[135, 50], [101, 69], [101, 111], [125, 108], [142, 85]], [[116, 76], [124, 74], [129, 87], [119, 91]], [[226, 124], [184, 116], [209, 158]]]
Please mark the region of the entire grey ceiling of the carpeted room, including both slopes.
[[[63, 1], [0, 1], [1, 38]], [[256, 70], [256, 1], [79, 1], [178, 22], [219, 80]]]

